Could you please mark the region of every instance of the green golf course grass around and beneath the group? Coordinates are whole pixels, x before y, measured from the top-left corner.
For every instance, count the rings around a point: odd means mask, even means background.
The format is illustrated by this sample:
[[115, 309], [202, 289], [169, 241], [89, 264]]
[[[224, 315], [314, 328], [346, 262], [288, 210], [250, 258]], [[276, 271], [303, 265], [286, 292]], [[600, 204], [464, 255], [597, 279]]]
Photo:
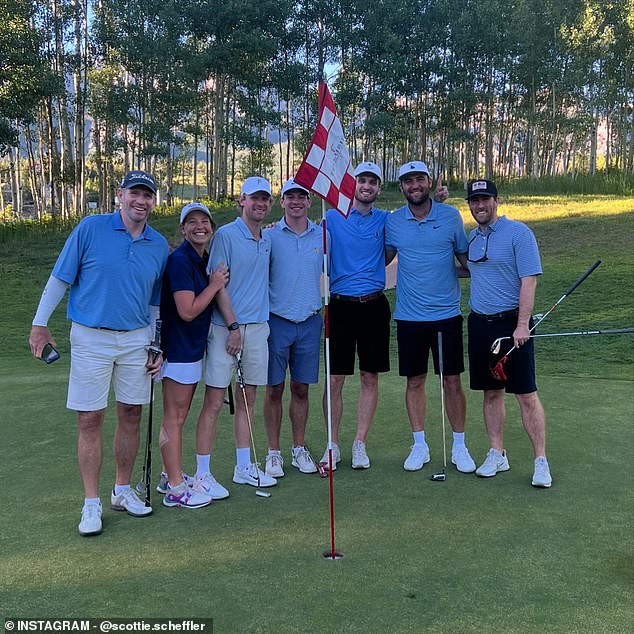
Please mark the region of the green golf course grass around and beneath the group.
[[[400, 204], [396, 195], [382, 202], [391, 208]], [[538, 311], [559, 299], [595, 259], [603, 260], [541, 332], [633, 325], [631, 198], [518, 196], [505, 203], [509, 215], [531, 224], [540, 242], [544, 275]], [[235, 212], [216, 216], [227, 221]], [[154, 225], [176, 237], [176, 222], [173, 216], [158, 216]], [[326, 482], [289, 467], [268, 500], [230, 484], [233, 434], [227, 412], [221, 416], [213, 468], [229, 485], [229, 500], [188, 512], [165, 509], [156, 496], [154, 516], [147, 519], [106, 509], [103, 535], [82, 539], [76, 533], [82, 493], [75, 423], [64, 409], [68, 326], [61, 307], [52, 330], [62, 360], [46, 367], [27, 348], [33, 311], [63, 239], [63, 234], [33, 232], [0, 254], [0, 477], [5, 483], [0, 614], [213, 617], [218, 633], [632, 630], [631, 336], [537, 345], [554, 477], [548, 491], [530, 487], [529, 442], [512, 399], [506, 433], [511, 471], [480, 480], [449, 469], [447, 482], [430, 482], [442, 456], [434, 379], [427, 390], [432, 463], [422, 472], [403, 471], [411, 435], [393, 341], [394, 369], [381, 379], [368, 442], [372, 468], [364, 472], [349, 468], [358, 379], [346, 385], [344, 462], [335, 475], [337, 546], [345, 552], [343, 560], [321, 557], [329, 544]], [[469, 283], [463, 283], [466, 296]], [[389, 295], [393, 299], [393, 291]], [[311, 390], [308, 427], [308, 444], [316, 454], [325, 443], [319, 394], [319, 388]], [[467, 391], [467, 399], [468, 442], [481, 461], [488, 448], [481, 396]], [[262, 452], [261, 402], [260, 394], [255, 422]], [[160, 417], [158, 399], [155, 420]], [[113, 427], [110, 409], [104, 429], [104, 500], [113, 478]], [[285, 420], [287, 457], [289, 446]], [[190, 421], [188, 469], [192, 455]]]

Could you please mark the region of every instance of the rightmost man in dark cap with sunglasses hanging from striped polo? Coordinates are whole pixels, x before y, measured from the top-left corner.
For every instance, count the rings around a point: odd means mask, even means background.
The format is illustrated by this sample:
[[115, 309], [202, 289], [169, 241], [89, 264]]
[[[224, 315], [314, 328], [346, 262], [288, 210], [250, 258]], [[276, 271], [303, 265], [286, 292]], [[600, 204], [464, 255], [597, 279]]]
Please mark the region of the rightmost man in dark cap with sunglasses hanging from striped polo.
[[[469, 374], [471, 389], [484, 391], [484, 422], [491, 443], [486, 460], [476, 474], [490, 478], [510, 469], [504, 450], [506, 390], [515, 394], [522, 424], [533, 446], [535, 463], [531, 484], [549, 488], [552, 477], [546, 459], [546, 419], [537, 395], [535, 355], [530, 338], [537, 276], [542, 273], [537, 241], [525, 224], [498, 216], [495, 183], [470, 182], [467, 201], [478, 223], [469, 235], [468, 251], [471, 272]], [[512, 337], [517, 348], [504, 367], [505, 382], [493, 378], [489, 371], [491, 345], [498, 337]]]

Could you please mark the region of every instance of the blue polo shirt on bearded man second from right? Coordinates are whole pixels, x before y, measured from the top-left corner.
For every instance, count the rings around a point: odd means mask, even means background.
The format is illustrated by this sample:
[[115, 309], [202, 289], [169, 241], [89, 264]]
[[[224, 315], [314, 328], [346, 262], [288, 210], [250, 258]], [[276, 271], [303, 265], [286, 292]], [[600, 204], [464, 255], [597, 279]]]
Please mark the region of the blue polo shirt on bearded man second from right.
[[385, 248], [398, 252], [394, 319], [437, 321], [460, 314], [455, 254], [467, 251], [467, 237], [455, 207], [432, 201], [418, 220], [407, 205], [392, 212]]

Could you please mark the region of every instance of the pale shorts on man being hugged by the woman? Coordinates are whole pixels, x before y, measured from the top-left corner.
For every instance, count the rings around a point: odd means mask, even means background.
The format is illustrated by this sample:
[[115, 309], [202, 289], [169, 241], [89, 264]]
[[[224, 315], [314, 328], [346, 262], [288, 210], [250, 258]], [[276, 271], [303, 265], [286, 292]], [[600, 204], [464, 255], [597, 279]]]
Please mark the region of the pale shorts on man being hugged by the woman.
[[[269, 324], [240, 325], [242, 338], [242, 371], [248, 385], [266, 385], [269, 365]], [[229, 330], [211, 324], [207, 337], [205, 384], [227, 387], [236, 368], [236, 358], [227, 353]]]

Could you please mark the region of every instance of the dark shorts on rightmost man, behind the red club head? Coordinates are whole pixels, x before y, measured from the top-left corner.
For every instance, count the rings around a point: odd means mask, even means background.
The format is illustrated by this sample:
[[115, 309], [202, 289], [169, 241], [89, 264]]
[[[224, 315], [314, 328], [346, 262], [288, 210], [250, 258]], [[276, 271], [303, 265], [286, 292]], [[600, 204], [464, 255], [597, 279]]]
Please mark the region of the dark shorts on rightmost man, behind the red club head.
[[[533, 339], [529, 339], [509, 355], [504, 364], [508, 379], [498, 381], [491, 376], [490, 366], [512, 347], [513, 340], [502, 342], [500, 353], [493, 355], [491, 345], [498, 337], [510, 337], [517, 327], [517, 316], [510, 315], [497, 321], [487, 321], [475, 313], [469, 314], [469, 385], [472, 390], [506, 390], [509, 394], [531, 394], [537, 391], [535, 383], [535, 351]], [[533, 327], [531, 319], [529, 328]]]

